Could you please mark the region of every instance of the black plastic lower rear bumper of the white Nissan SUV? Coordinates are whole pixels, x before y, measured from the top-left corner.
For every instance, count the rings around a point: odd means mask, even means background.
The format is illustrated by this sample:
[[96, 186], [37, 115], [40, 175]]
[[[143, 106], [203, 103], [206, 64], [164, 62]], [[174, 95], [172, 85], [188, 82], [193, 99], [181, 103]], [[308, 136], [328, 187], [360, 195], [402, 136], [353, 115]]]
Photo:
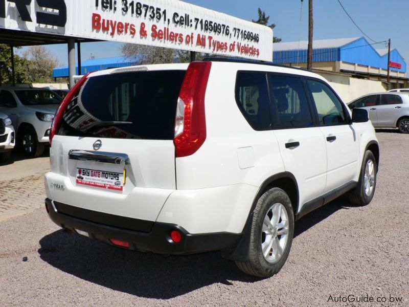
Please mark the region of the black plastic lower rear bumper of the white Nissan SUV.
[[[108, 216], [90, 210], [81, 211], [83, 209], [53, 202], [50, 199], [46, 199], [46, 208], [51, 220], [64, 229], [74, 232], [75, 229], [85, 231], [90, 238], [111, 245], [109, 239], [122, 240], [129, 243], [131, 250], [160, 254], [193, 254], [235, 248], [242, 237], [242, 234], [229, 232], [190, 234], [179, 225]], [[76, 216], [71, 214], [76, 214]], [[103, 221], [110, 225], [99, 223]], [[172, 230], [178, 230], [182, 234], [179, 243], [174, 243], [170, 239]]]

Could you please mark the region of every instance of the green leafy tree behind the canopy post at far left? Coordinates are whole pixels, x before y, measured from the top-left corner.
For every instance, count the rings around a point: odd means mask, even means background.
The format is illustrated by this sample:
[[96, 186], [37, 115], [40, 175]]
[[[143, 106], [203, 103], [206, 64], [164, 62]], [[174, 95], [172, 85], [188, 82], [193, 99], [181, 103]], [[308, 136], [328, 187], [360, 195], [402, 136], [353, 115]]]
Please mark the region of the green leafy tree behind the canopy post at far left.
[[[15, 47], [18, 49], [18, 47]], [[14, 67], [16, 83], [27, 82], [27, 73], [25, 67], [28, 64], [27, 59], [14, 55]], [[13, 73], [11, 69], [11, 50], [10, 46], [0, 44], [0, 80], [4, 83], [13, 83]]]

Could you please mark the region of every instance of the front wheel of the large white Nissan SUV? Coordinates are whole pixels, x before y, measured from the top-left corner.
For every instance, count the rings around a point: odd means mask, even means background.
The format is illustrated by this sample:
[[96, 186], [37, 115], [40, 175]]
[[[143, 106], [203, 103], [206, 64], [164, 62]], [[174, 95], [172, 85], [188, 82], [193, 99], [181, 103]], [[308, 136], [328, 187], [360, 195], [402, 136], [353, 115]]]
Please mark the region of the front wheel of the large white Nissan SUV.
[[349, 201], [358, 206], [366, 206], [375, 194], [377, 165], [371, 150], [365, 152], [359, 174], [358, 185], [348, 193]]

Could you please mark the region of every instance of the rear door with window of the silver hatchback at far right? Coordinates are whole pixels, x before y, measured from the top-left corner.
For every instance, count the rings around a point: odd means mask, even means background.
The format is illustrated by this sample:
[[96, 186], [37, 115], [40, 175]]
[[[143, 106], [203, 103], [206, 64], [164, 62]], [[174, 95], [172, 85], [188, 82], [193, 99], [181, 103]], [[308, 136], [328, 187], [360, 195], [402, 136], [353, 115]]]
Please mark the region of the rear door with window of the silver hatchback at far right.
[[379, 127], [395, 127], [402, 111], [402, 97], [395, 94], [381, 94], [380, 105], [377, 106]]

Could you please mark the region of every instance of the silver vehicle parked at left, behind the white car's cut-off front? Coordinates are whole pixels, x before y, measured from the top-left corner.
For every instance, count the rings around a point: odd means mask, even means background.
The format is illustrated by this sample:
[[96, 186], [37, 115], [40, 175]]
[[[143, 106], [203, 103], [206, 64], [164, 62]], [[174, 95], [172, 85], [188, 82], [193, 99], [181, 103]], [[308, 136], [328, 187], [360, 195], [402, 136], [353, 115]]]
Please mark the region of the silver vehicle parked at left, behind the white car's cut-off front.
[[41, 156], [49, 144], [51, 122], [60, 102], [61, 97], [49, 90], [0, 87], [0, 112], [10, 117], [26, 156]]

